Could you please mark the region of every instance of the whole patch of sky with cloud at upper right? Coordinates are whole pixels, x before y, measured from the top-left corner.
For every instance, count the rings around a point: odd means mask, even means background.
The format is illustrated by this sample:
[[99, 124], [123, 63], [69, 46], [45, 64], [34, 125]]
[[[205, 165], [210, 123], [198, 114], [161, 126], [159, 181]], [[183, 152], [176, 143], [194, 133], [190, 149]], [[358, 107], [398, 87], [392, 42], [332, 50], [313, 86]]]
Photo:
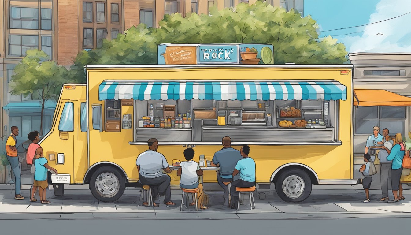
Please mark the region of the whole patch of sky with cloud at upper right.
[[[411, 0], [304, 1], [304, 14], [317, 21], [320, 31], [359, 26], [410, 11]], [[411, 27], [404, 27], [410, 23], [411, 14], [407, 14], [369, 26], [323, 32], [320, 36], [334, 36], [346, 45], [349, 52], [411, 52]], [[383, 35], [376, 35], [379, 33]]]

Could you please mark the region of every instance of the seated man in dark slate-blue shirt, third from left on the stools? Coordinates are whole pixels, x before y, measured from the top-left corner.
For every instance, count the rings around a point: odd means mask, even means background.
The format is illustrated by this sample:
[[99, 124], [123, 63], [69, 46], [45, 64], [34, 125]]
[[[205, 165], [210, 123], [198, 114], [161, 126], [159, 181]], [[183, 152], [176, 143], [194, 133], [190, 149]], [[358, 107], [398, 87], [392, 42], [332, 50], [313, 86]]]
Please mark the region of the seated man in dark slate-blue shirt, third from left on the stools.
[[[229, 206], [228, 183], [233, 182], [233, 171], [238, 161], [241, 160], [240, 151], [231, 148], [231, 138], [226, 136], [222, 139], [223, 148], [217, 151], [211, 161], [211, 166], [219, 165], [217, 182], [224, 189], [224, 206]], [[224, 184], [225, 183], [225, 184]]]

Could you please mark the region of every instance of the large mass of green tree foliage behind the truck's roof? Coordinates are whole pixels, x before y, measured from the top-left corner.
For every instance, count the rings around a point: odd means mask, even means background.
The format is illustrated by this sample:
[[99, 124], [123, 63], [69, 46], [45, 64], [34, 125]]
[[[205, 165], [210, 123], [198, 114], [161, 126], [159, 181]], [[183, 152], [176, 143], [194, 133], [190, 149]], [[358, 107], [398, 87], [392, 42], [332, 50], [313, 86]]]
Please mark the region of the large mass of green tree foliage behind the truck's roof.
[[311, 16], [302, 17], [293, 9], [286, 12], [262, 1], [220, 11], [214, 8], [210, 15], [166, 14], [159, 26], [133, 26], [116, 39], [103, 40], [101, 48], [81, 52], [72, 66], [72, 74], [85, 81], [83, 66], [87, 64], [156, 64], [160, 43], [272, 44], [275, 64], [347, 61], [344, 44], [330, 36], [319, 38], [319, 27]]

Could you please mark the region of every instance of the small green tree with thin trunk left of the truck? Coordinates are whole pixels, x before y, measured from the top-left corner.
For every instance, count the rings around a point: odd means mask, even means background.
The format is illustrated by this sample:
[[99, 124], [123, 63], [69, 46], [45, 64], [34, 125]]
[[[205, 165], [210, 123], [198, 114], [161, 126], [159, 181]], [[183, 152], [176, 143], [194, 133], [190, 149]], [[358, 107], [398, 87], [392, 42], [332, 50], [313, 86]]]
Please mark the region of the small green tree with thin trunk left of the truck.
[[26, 51], [27, 56], [14, 68], [10, 87], [14, 95], [32, 94], [42, 104], [40, 133], [43, 132], [44, 105], [47, 100], [58, 100], [67, 70], [54, 61], [46, 60], [47, 54], [37, 49]]

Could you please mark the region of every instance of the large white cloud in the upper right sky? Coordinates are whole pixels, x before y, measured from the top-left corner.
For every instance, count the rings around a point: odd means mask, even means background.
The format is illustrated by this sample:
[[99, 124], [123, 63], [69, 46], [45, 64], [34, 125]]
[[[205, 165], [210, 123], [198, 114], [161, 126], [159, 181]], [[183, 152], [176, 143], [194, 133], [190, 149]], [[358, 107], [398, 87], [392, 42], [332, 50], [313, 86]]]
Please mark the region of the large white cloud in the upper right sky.
[[[376, 13], [370, 15], [369, 23], [405, 14], [411, 11], [410, 0], [381, 0], [376, 4]], [[411, 52], [411, 13], [396, 19], [364, 27], [362, 36], [340, 37], [339, 40], [354, 52]], [[381, 33], [383, 35], [376, 35]]]

